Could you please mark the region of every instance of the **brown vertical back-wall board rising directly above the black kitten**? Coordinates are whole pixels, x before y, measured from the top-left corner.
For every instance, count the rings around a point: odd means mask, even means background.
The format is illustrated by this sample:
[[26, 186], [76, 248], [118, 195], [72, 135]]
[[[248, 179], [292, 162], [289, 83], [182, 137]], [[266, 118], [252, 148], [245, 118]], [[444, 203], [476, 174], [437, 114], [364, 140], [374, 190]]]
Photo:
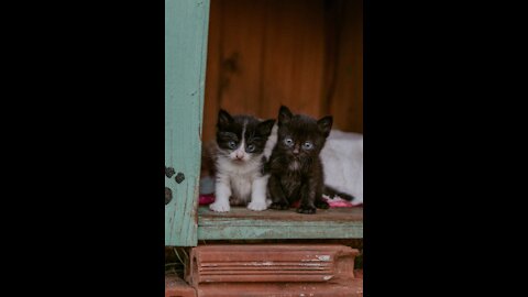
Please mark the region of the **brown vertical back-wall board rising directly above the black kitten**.
[[320, 114], [324, 63], [323, 1], [267, 2], [261, 113], [276, 117], [279, 106]]

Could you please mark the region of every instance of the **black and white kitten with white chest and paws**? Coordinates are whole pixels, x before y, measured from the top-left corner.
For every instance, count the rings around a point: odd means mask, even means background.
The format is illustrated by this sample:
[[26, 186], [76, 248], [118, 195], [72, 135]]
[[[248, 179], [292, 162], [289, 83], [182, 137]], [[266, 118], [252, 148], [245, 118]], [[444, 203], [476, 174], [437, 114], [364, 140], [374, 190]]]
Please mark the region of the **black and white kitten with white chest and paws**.
[[250, 116], [218, 113], [213, 211], [229, 211], [230, 205], [245, 205], [251, 210], [267, 209], [264, 151], [275, 120], [260, 121]]

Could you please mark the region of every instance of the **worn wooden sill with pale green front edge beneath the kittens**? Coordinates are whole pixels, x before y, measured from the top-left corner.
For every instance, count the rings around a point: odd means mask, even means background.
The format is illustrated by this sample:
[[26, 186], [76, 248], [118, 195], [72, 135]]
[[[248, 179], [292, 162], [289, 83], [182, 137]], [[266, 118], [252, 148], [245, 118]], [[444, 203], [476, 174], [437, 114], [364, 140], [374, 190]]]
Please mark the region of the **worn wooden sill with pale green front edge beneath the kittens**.
[[295, 210], [251, 211], [232, 208], [217, 213], [198, 210], [198, 239], [361, 239], [363, 209], [341, 208], [318, 210], [315, 216]]

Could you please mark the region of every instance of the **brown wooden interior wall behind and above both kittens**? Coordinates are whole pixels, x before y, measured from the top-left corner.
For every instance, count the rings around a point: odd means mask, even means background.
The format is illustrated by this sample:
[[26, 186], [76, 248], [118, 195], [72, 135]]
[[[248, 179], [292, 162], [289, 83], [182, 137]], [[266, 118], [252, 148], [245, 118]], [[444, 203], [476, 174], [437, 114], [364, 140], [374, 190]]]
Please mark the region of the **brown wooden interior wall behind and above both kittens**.
[[267, 119], [280, 105], [363, 132], [362, 0], [211, 0], [204, 140], [219, 108]]

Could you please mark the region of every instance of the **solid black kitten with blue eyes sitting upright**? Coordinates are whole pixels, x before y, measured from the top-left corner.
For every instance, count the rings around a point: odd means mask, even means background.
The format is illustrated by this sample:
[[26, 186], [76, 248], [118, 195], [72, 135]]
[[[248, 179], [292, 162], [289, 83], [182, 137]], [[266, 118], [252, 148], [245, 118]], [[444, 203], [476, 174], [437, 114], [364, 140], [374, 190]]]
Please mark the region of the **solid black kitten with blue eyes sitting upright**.
[[322, 200], [323, 170], [319, 153], [332, 128], [332, 117], [320, 120], [292, 114], [282, 106], [278, 111], [277, 144], [270, 156], [267, 184], [273, 204], [270, 208], [288, 209], [300, 199], [297, 212], [315, 213], [327, 209]]

